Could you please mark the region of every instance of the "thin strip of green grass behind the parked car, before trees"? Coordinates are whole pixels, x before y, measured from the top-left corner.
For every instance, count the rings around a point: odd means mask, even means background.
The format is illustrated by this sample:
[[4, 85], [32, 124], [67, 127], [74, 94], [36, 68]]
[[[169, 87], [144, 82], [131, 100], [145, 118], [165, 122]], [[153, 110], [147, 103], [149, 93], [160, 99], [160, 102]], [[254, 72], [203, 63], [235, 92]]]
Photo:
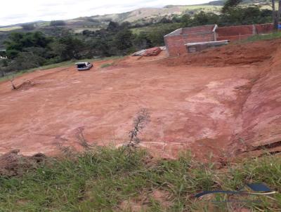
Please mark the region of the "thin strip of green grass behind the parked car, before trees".
[[104, 61], [106, 61], [106, 60], [118, 60], [118, 59], [121, 59], [121, 58], [123, 58], [123, 57], [112, 56], [112, 57], [108, 57], [108, 58], [99, 58], [99, 59], [68, 60], [68, 61], [65, 61], [65, 62], [54, 63], [54, 64], [51, 64], [51, 65], [44, 65], [44, 66], [41, 66], [41, 67], [35, 67], [35, 68], [32, 68], [32, 69], [22, 70], [22, 71], [19, 71], [19, 72], [11, 72], [6, 77], [0, 77], [0, 82], [8, 80], [9, 78], [11, 78], [11, 75], [13, 75], [13, 77], [19, 77], [22, 74], [34, 72], [34, 71], [37, 71], [37, 70], [47, 70], [47, 69], [53, 69], [55, 67], [70, 67], [70, 66], [73, 66], [75, 64], [75, 62], [84, 62], [84, 61], [95, 62], [95, 61], [100, 61], [100, 60], [104, 60]]

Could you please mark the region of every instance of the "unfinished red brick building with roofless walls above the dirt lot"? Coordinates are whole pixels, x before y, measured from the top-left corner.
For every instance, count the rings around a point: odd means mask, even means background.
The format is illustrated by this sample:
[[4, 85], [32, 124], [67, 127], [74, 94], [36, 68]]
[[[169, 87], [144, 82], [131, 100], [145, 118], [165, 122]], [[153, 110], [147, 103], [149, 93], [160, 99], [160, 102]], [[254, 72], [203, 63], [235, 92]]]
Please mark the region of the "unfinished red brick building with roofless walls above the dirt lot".
[[205, 25], [176, 29], [164, 36], [165, 45], [169, 56], [178, 56], [187, 53], [185, 44], [207, 41], [237, 41], [247, 39], [254, 34], [266, 34], [273, 31], [273, 24], [242, 25], [231, 27], [218, 27]]

